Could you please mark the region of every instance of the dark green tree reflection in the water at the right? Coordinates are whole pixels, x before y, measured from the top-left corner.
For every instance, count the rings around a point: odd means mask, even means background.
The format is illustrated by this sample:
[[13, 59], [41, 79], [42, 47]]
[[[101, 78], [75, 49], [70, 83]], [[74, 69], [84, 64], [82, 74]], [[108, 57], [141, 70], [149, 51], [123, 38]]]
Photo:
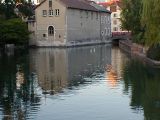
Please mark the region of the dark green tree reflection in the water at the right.
[[125, 91], [131, 91], [132, 109], [144, 111], [145, 120], [160, 120], [160, 70], [138, 61], [128, 62], [124, 70]]

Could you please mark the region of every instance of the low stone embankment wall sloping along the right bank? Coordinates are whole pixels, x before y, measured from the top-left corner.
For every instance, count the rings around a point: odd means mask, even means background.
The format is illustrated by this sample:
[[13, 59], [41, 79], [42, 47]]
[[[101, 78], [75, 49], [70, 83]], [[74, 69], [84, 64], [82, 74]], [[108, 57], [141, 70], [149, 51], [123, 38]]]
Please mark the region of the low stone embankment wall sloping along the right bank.
[[130, 40], [120, 40], [119, 48], [129, 53], [132, 58], [141, 60], [142, 62], [147, 63], [153, 67], [160, 68], [160, 61], [148, 58], [146, 56], [146, 48], [142, 45], [132, 43]]

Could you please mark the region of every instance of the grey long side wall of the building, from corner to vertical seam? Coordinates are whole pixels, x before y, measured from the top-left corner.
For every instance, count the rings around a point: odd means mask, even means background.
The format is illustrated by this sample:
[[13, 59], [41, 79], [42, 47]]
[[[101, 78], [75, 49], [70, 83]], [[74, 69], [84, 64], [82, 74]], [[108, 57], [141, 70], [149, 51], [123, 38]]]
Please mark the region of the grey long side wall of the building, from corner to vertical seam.
[[79, 9], [67, 10], [68, 43], [100, 40], [100, 15]]

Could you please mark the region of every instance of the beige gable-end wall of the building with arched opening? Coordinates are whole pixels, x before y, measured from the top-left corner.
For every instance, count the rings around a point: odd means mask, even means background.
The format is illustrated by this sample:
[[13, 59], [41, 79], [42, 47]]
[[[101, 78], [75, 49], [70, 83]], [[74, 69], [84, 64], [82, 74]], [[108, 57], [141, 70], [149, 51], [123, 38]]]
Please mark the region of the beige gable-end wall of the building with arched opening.
[[[59, 46], [65, 44], [66, 27], [65, 27], [65, 11], [66, 8], [58, 1], [52, 1], [53, 16], [49, 16], [49, 1], [45, 1], [35, 10], [36, 18], [36, 45], [38, 46]], [[60, 10], [60, 15], [55, 16], [55, 9]], [[42, 16], [42, 10], [47, 10], [47, 16]], [[48, 35], [48, 27], [54, 27], [54, 35]], [[43, 36], [45, 34], [45, 37]]]

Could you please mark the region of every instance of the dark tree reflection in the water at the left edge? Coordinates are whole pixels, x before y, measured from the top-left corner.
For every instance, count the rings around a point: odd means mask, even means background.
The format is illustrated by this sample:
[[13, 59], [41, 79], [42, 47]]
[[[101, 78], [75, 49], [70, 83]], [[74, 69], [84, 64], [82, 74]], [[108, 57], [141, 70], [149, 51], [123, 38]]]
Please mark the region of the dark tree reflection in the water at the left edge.
[[21, 53], [0, 57], [0, 119], [30, 118], [38, 109], [40, 98], [29, 78], [28, 65], [28, 56]]

